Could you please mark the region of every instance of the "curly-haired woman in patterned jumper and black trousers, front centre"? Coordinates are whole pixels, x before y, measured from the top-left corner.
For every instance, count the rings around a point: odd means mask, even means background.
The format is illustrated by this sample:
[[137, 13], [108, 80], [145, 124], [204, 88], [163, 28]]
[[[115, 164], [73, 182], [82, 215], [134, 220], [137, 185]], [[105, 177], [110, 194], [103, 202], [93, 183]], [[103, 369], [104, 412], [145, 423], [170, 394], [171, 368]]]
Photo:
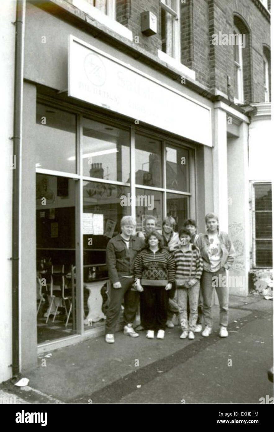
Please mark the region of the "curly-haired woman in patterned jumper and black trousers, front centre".
[[148, 339], [164, 339], [167, 321], [168, 291], [175, 278], [175, 263], [171, 254], [163, 249], [163, 238], [152, 231], [145, 239], [147, 247], [135, 259], [136, 289], [143, 292], [143, 324]]

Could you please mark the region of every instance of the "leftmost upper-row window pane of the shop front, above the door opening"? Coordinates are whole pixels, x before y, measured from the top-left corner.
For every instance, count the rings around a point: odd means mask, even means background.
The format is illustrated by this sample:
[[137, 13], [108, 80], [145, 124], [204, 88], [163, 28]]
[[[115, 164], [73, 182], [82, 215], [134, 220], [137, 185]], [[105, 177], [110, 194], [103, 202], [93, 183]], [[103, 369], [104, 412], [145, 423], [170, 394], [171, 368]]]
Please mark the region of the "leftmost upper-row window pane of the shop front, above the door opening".
[[46, 105], [36, 105], [37, 168], [76, 172], [76, 116]]

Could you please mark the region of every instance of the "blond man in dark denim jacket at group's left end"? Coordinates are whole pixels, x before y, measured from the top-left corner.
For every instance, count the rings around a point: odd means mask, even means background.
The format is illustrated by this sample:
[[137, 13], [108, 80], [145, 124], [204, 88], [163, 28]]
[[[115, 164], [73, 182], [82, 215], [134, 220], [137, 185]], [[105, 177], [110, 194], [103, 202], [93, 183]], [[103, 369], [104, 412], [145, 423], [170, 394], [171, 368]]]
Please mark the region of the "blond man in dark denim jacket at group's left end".
[[144, 248], [142, 238], [132, 236], [136, 226], [131, 216], [121, 219], [121, 233], [111, 238], [107, 244], [106, 262], [111, 283], [110, 305], [107, 309], [106, 337], [107, 343], [114, 343], [114, 331], [124, 299], [124, 334], [138, 337], [132, 323], [138, 308], [139, 293], [132, 288], [134, 283], [133, 268], [135, 257]]

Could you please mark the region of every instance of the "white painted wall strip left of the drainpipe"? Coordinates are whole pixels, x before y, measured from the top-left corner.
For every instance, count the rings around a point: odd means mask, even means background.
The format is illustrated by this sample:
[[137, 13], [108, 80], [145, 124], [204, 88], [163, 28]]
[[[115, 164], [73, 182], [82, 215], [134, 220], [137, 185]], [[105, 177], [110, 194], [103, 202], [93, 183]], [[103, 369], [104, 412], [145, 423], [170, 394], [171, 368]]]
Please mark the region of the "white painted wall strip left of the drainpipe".
[[[0, 82], [2, 132], [1, 172], [1, 302], [0, 302], [0, 382], [12, 376], [12, 188], [13, 170], [9, 158], [13, 156], [13, 95], [16, 2], [2, 0], [0, 14]], [[13, 161], [13, 158], [12, 158]], [[13, 163], [13, 162], [12, 162]]]

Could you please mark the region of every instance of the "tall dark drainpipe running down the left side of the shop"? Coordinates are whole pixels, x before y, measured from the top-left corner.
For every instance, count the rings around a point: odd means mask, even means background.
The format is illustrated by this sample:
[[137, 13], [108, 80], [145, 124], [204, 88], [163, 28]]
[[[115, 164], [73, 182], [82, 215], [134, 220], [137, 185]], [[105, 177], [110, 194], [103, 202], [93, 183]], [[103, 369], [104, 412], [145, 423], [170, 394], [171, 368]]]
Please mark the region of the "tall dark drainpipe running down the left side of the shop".
[[[13, 111], [13, 239], [12, 239], [12, 306], [13, 306], [13, 376], [19, 374], [19, 221], [20, 172], [22, 141], [23, 56], [25, 0], [16, 2], [14, 111]], [[16, 159], [15, 159], [16, 157]]]

